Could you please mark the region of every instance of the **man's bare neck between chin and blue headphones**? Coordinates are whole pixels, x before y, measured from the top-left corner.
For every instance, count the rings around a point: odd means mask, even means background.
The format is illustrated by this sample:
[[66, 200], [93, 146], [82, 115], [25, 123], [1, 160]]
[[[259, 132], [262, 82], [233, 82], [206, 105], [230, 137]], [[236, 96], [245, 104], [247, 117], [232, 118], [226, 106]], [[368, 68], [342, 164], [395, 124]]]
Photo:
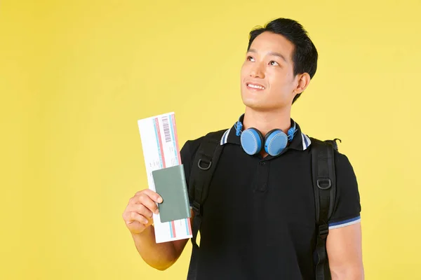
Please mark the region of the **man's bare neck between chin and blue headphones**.
[[281, 129], [283, 132], [287, 133], [291, 127], [290, 116], [290, 108], [279, 111], [255, 111], [246, 107], [243, 130], [255, 127], [262, 133], [263, 137], [265, 137], [267, 132], [274, 130], [275, 128]]

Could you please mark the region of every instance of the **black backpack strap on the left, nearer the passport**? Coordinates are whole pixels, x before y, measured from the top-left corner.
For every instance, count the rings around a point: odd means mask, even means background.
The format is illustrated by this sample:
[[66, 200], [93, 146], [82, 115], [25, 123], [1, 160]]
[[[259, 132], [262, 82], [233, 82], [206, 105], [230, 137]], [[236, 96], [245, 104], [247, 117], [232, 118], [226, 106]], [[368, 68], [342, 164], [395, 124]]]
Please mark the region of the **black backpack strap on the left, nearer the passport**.
[[199, 149], [194, 156], [192, 171], [189, 178], [189, 198], [192, 202], [194, 218], [192, 223], [192, 258], [189, 265], [187, 279], [196, 279], [199, 260], [199, 246], [196, 243], [197, 233], [201, 228], [203, 203], [208, 196], [208, 188], [213, 172], [222, 153], [221, 138], [227, 130], [210, 132], [203, 137]]

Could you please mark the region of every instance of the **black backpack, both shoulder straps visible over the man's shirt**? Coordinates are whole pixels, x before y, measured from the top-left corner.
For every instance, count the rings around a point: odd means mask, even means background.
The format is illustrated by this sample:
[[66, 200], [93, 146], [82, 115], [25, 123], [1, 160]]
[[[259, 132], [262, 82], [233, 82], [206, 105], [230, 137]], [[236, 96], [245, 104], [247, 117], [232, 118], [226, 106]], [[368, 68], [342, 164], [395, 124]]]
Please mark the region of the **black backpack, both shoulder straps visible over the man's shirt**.
[[[218, 159], [224, 145], [220, 145], [222, 134], [226, 130], [210, 132], [203, 137], [194, 157], [189, 178], [189, 199], [192, 202], [194, 218], [192, 223], [192, 259], [189, 265], [187, 280], [196, 280], [199, 260], [199, 246], [196, 243], [197, 233], [201, 228], [203, 204], [208, 196], [208, 187], [212, 180]], [[326, 253], [328, 236], [328, 218], [332, 215], [336, 195], [335, 158], [333, 149], [338, 151], [336, 140], [312, 141], [312, 178], [316, 206], [316, 226], [319, 229], [316, 243], [316, 280], [331, 279]]]

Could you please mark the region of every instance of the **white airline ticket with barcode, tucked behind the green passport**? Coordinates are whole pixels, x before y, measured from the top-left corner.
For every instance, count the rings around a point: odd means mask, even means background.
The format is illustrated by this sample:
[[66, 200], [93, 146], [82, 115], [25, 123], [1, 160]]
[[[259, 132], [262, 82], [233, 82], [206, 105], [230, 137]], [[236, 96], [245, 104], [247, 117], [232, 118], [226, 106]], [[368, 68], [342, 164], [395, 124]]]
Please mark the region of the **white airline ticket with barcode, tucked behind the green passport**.
[[[152, 171], [181, 165], [177, 127], [174, 113], [165, 113], [138, 120], [142, 150], [145, 158], [149, 189], [156, 191]], [[190, 219], [161, 223], [159, 214], [153, 215], [156, 243], [192, 237]]]

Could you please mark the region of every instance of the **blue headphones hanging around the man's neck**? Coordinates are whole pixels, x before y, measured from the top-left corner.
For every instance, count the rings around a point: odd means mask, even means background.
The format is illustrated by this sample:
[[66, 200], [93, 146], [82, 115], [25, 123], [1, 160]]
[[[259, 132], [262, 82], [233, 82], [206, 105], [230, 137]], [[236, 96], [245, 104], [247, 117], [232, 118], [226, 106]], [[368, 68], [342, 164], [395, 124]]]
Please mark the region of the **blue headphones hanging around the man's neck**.
[[269, 155], [279, 155], [286, 148], [288, 142], [293, 141], [295, 132], [297, 132], [293, 121], [293, 126], [288, 130], [288, 135], [282, 130], [274, 129], [267, 132], [265, 137], [263, 137], [262, 133], [254, 127], [242, 130], [243, 123], [241, 123], [241, 120], [243, 120], [243, 116], [236, 122], [235, 131], [236, 136], [240, 136], [241, 147], [248, 155], [260, 153], [262, 146], [265, 146], [265, 152]]

